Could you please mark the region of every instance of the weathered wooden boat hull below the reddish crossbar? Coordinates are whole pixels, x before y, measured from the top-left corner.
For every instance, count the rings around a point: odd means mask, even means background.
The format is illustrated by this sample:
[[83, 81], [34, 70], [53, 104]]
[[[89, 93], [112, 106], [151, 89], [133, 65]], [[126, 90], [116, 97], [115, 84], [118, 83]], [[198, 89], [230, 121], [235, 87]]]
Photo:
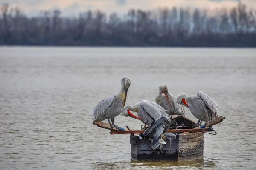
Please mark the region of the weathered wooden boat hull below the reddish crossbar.
[[166, 144], [153, 150], [151, 141], [130, 136], [131, 157], [134, 161], [188, 161], [199, 159], [204, 151], [204, 133], [190, 133], [177, 139], [166, 139]]

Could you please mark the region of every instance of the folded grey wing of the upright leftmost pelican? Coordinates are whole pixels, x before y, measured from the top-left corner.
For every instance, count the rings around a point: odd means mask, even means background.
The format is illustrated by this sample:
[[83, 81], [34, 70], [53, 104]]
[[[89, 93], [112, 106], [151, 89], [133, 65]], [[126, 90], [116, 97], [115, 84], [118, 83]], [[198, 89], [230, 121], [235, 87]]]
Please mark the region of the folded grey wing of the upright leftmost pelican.
[[93, 108], [93, 120], [96, 120], [99, 116], [105, 113], [105, 111], [110, 107], [113, 103], [115, 97], [109, 96], [106, 99], [103, 99]]

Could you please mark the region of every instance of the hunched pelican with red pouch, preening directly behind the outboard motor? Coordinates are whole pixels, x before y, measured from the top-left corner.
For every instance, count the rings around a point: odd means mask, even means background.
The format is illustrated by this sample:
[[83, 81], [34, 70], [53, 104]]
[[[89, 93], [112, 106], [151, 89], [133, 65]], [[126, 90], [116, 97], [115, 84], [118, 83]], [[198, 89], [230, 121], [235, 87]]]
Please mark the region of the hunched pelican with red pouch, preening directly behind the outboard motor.
[[[130, 111], [137, 112], [138, 117], [134, 116]], [[141, 120], [145, 126], [150, 125], [155, 119], [162, 115], [166, 115], [164, 108], [148, 100], [143, 100], [134, 105], [126, 105], [121, 113], [121, 116], [130, 116], [134, 119]]]

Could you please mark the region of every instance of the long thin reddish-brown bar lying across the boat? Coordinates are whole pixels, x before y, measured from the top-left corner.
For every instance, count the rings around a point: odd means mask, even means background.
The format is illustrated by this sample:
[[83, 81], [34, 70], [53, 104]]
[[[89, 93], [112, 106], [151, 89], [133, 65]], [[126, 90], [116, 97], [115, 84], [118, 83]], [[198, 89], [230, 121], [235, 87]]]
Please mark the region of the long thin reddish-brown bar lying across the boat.
[[[180, 133], [180, 132], [206, 132], [211, 131], [210, 129], [170, 129], [166, 133]], [[125, 131], [111, 131], [111, 135], [115, 134], [132, 134], [132, 133], [144, 133], [145, 130], [125, 130]]]

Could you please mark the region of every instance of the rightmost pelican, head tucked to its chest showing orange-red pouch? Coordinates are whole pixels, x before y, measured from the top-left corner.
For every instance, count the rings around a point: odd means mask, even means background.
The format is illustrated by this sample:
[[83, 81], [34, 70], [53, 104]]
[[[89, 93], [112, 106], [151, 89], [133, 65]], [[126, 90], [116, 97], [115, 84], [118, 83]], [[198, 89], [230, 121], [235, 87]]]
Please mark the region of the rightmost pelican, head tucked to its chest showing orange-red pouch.
[[175, 102], [188, 107], [192, 115], [198, 119], [198, 125], [201, 125], [202, 121], [207, 122], [218, 117], [218, 104], [202, 91], [192, 96], [186, 93], [178, 94]]

